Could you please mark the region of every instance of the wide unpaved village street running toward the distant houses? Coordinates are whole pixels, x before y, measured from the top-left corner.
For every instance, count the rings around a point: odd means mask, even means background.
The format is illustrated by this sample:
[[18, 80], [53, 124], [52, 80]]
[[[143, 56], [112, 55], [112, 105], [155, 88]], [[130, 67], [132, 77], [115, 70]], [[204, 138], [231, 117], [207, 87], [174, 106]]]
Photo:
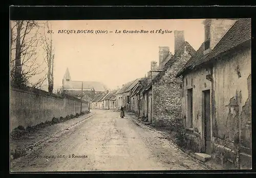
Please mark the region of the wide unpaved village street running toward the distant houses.
[[158, 132], [137, 125], [129, 116], [121, 119], [111, 110], [91, 112], [96, 114], [11, 162], [11, 171], [206, 169]]

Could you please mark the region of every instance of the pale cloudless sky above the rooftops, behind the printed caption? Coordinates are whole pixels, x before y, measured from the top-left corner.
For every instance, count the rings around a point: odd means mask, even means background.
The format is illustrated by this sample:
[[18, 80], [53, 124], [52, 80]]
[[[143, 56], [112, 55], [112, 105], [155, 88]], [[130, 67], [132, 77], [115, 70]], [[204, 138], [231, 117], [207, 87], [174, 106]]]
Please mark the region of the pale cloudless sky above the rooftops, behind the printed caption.
[[[150, 71], [151, 61], [159, 63], [159, 46], [174, 54], [174, 31], [184, 30], [185, 40], [198, 50], [204, 40], [203, 19], [142, 20], [52, 20], [55, 48], [54, 88], [62, 85], [69, 69], [71, 80], [99, 81], [115, 89]], [[172, 33], [150, 33], [151, 30]], [[93, 34], [58, 33], [61, 30], [94, 30]], [[95, 34], [96, 30], [108, 33]], [[115, 31], [121, 31], [116, 34]], [[144, 34], [124, 34], [123, 30], [148, 30]], [[111, 33], [110, 31], [113, 31]]]

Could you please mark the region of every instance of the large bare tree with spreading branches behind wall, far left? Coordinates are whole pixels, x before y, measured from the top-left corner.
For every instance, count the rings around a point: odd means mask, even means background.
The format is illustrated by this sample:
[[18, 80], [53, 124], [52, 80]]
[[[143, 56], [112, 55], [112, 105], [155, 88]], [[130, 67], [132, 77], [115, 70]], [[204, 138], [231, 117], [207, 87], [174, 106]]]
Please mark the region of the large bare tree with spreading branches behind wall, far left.
[[[45, 69], [39, 70], [42, 63], [37, 60], [37, 47], [39, 46], [39, 25], [35, 20], [15, 20], [10, 25], [10, 58], [11, 81], [20, 85], [28, 85], [29, 79], [41, 74]], [[16, 33], [15, 33], [16, 31]], [[15, 51], [13, 58], [12, 52]], [[45, 80], [42, 77], [33, 87], [40, 86]]]

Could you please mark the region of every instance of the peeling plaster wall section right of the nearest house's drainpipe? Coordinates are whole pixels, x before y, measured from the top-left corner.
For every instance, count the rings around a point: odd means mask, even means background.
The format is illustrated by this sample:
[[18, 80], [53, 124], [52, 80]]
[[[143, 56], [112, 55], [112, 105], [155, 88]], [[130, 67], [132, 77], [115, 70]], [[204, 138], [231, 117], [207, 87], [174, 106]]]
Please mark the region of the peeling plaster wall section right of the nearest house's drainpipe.
[[251, 168], [251, 50], [236, 49], [222, 59], [214, 70], [216, 112], [212, 136], [232, 143], [232, 151], [240, 152], [239, 162], [223, 153], [224, 162]]

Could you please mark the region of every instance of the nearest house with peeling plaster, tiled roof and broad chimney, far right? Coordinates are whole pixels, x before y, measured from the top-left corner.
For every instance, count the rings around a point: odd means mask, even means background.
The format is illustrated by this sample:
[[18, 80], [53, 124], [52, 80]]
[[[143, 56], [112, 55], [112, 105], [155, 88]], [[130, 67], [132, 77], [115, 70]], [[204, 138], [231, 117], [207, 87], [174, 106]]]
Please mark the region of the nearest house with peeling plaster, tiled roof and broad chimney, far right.
[[205, 41], [178, 73], [187, 147], [251, 168], [251, 21], [206, 19]]

